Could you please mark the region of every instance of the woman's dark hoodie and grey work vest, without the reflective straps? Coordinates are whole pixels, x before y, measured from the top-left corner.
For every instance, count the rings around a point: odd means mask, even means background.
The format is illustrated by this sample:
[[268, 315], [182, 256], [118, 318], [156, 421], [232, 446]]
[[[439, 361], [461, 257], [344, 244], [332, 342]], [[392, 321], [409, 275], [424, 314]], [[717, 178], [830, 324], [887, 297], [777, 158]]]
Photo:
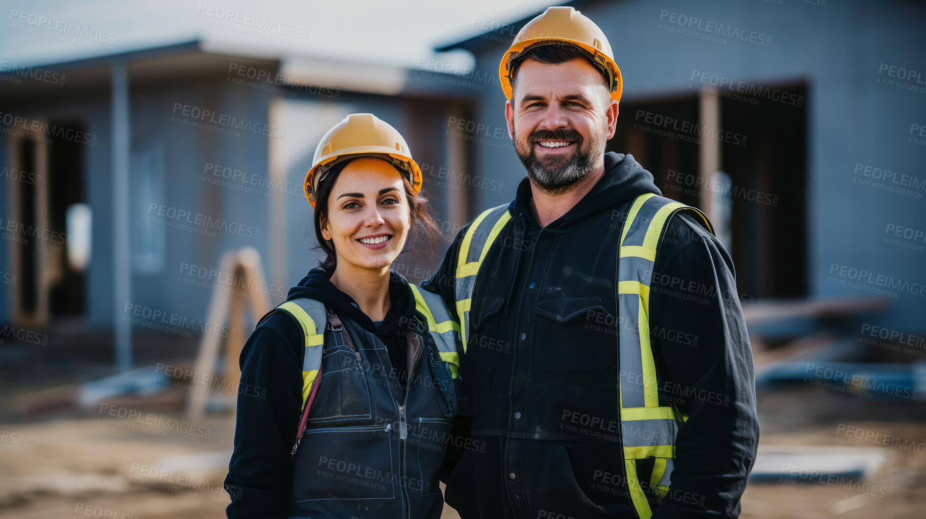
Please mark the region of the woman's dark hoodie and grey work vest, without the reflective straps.
[[[302, 330], [276, 312], [247, 340], [241, 384], [259, 390], [239, 391], [225, 479], [228, 517], [440, 516], [436, 471], [456, 394], [447, 405], [437, 381], [452, 388], [449, 369], [439, 362], [406, 279], [396, 273], [390, 297], [392, 307], [377, 328], [320, 268], [289, 291], [287, 300], [324, 303], [357, 346], [338, 343], [326, 329], [318, 393], [292, 459], [302, 407]], [[251, 396], [256, 393], [266, 398]]]

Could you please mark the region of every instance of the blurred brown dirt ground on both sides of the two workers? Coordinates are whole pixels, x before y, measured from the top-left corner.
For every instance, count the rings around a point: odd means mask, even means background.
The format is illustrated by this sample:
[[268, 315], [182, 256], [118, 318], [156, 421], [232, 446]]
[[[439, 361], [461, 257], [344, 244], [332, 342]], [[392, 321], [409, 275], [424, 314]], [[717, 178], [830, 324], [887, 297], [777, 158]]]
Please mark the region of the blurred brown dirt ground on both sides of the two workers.
[[[890, 496], [838, 485], [750, 482], [743, 517], [924, 516], [926, 406], [859, 402], [807, 387], [766, 392], [758, 404], [763, 446], [849, 446], [882, 452], [885, 463], [865, 482], [889, 489]], [[180, 413], [155, 414], [162, 420], [184, 421]], [[0, 424], [0, 519], [224, 517], [229, 497], [222, 481], [232, 449], [231, 416], [207, 418], [188, 430], [170, 426], [169, 421], [158, 426], [138, 418], [107, 418], [106, 413], [91, 411]], [[919, 447], [884, 447], [878, 439], [845, 434], [848, 426]], [[210, 465], [214, 468], [194, 468]], [[448, 510], [444, 517], [458, 516]]]

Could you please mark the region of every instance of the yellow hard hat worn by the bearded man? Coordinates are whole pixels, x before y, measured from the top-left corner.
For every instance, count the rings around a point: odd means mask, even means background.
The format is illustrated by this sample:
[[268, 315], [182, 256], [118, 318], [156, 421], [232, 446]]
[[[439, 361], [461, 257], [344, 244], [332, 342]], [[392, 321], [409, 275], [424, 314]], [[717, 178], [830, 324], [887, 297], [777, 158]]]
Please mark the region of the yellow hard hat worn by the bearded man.
[[610, 85], [611, 99], [620, 101], [624, 83], [618, 64], [614, 62], [611, 44], [594, 21], [573, 7], [547, 7], [544, 14], [527, 22], [518, 31], [514, 43], [508, 47], [498, 67], [498, 79], [508, 101], [511, 100], [511, 61], [528, 47], [572, 43], [588, 53], [592, 61], [605, 72]]

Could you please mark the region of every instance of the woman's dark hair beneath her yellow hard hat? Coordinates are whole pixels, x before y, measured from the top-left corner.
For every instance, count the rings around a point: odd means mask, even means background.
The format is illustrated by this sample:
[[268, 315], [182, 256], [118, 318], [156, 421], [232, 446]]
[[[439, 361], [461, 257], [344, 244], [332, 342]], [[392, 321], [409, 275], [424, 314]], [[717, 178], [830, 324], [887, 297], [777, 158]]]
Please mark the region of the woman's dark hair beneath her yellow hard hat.
[[[319, 263], [329, 276], [332, 275], [334, 267], [337, 266], [337, 255], [334, 253], [334, 243], [331, 240], [325, 240], [324, 237], [321, 236], [321, 229], [324, 221], [328, 218], [328, 197], [332, 193], [334, 182], [341, 176], [341, 171], [344, 170], [344, 167], [352, 160], [354, 159], [344, 160], [332, 166], [332, 168], [328, 170], [328, 174], [325, 175], [325, 178], [319, 181], [319, 191], [316, 193], [315, 236], [319, 240], [321, 250], [325, 252], [325, 258]], [[410, 243], [419, 239], [419, 235], [425, 240], [426, 250], [432, 251], [433, 247], [431, 245], [441, 236], [441, 232], [437, 223], [434, 221], [431, 204], [428, 204], [428, 199], [421, 195], [420, 192], [414, 193], [411, 191], [411, 183], [408, 181], [407, 175], [405, 174], [402, 174], [402, 183], [405, 185], [409, 218], [411, 220], [411, 229], [406, 239], [406, 251], [409, 250], [408, 247]], [[403, 253], [406, 251], [403, 251]]]

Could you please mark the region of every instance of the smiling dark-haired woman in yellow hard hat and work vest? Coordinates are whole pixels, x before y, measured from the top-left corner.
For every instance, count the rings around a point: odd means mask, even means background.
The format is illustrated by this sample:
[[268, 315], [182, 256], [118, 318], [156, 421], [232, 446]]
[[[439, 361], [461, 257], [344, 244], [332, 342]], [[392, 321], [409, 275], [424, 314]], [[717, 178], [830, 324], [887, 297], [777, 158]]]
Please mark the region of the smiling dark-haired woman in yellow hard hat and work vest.
[[[229, 517], [431, 518], [457, 413], [459, 327], [390, 265], [436, 226], [405, 140], [353, 114], [306, 176], [327, 254], [242, 352]], [[249, 395], [266, 394], [266, 399]]]

